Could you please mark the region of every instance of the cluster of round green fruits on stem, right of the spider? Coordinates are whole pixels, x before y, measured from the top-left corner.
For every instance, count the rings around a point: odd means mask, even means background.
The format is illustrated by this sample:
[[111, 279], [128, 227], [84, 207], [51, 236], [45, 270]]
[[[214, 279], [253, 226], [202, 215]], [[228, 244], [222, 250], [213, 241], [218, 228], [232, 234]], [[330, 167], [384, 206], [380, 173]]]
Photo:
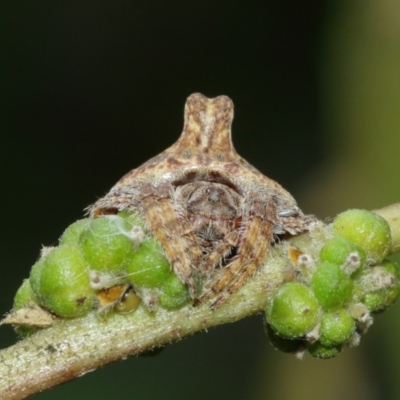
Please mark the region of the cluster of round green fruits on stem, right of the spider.
[[386, 220], [365, 210], [340, 214], [333, 237], [315, 255], [292, 249], [295, 273], [266, 309], [266, 331], [278, 350], [332, 358], [355, 346], [372, 314], [394, 303], [399, 267], [385, 259], [391, 247]]

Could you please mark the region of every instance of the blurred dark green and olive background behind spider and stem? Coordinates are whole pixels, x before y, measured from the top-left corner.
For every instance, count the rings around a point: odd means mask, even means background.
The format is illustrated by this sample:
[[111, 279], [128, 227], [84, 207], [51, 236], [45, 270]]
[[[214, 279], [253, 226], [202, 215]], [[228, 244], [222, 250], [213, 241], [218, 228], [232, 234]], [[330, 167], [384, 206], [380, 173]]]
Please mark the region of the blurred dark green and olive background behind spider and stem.
[[[0, 32], [0, 314], [42, 245], [178, 138], [193, 92], [233, 99], [236, 149], [305, 212], [400, 201], [396, 0], [2, 2]], [[276, 352], [259, 315], [34, 398], [400, 398], [399, 311], [334, 360]]]

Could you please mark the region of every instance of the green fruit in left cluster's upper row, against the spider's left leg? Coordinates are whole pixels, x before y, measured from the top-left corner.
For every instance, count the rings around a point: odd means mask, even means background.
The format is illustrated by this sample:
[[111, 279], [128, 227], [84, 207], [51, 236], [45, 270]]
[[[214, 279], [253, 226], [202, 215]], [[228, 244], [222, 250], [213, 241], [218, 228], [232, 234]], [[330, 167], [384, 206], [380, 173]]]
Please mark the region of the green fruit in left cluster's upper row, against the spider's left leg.
[[138, 287], [161, 287], [172, 275], [167, 258], [155, 239], [143, 243], [126, 267], [128, 279]]

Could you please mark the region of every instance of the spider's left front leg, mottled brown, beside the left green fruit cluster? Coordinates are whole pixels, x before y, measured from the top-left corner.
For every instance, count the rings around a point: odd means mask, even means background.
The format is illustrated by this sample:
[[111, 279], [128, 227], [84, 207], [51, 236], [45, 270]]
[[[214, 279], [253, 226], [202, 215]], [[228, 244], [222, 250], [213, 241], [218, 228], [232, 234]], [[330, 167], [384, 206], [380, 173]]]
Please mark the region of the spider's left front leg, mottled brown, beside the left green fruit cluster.
[[174, 272], [187, 284], [190, 296], [197, 297], [191, 263], [196, 262], [201, 251], [190, 226], [179, 217], [173, 203], [173, 188], [169, 184], [145, 188], [142, 210], [153, 235], [160, 242]]

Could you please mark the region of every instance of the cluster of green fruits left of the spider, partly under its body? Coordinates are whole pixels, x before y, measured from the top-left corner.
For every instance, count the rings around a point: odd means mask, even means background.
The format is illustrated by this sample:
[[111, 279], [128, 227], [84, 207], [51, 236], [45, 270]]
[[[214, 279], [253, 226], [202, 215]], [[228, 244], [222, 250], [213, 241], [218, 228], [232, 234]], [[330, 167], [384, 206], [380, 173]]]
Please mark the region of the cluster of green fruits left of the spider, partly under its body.
[[189, 302], [186, 286], [144, 223], [121, 212], [76, 221], [57, 247], [43, 248], [17, 291], [14, 310], [38, 304], [74, 318], [94, 310], [132, 312], [140, 303], [173, 310]]

